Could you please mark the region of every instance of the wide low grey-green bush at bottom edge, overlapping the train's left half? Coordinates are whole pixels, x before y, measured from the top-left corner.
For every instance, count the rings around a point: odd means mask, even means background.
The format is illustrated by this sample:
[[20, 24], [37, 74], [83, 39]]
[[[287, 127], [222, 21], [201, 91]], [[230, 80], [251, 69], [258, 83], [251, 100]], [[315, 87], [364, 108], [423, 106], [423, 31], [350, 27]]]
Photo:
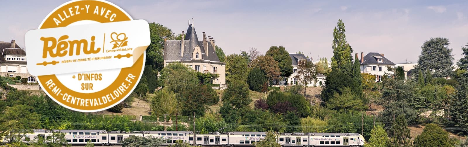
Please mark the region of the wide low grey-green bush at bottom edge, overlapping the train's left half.
[[122, 141], [122, 147], [161, 147], [166, 140], [153, 136], [130, 136]]

